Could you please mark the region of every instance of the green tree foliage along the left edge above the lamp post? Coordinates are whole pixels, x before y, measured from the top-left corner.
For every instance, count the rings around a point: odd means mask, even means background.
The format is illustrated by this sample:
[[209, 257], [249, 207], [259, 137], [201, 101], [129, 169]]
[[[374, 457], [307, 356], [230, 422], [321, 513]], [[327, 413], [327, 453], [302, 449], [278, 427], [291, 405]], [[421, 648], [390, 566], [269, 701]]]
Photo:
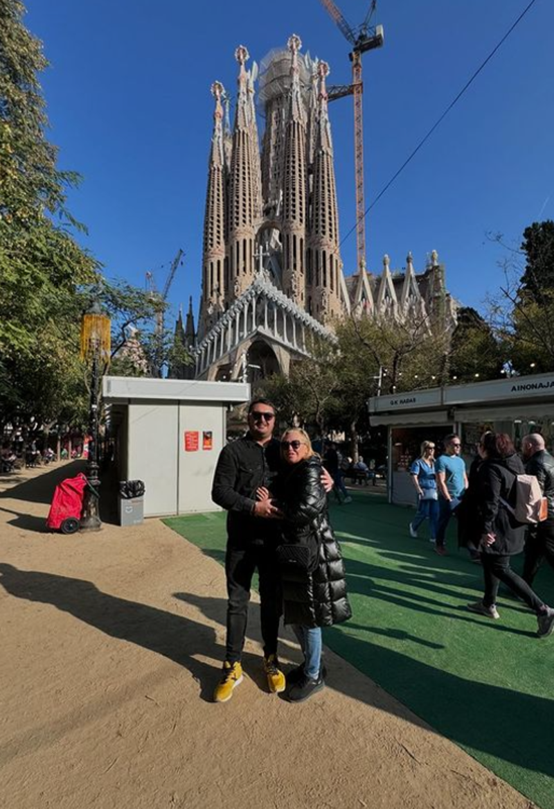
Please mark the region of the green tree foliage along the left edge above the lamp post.
[[74, 237], [82, 226], [65, 202], [79, 176], [57, 167], [46, 137], [39, 77], [48, 62], [24, 13], [19, 0], [0, 0], [0, 427], [84, 426], [90, 368], [79, 333], [91, 296], [111, 316], [115, 370], [151, 374], [175, 349], [155, 328], [165, 304], [107, 281]]

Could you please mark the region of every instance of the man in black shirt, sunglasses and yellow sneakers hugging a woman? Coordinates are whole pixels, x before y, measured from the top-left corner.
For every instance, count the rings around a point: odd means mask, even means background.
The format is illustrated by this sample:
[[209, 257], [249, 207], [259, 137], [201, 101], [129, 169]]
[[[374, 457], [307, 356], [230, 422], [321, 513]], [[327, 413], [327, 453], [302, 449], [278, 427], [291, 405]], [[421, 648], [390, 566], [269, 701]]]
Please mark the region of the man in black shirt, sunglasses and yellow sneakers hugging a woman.
[[273, 438], [275, 407], [267, 399], [254, 399], [248, 409], [248, 433], [227, 444], [217, 461], [212, 500], [228, 511], [227, 650], [223, 676], [214, 693], [226, 702], [242, 680], [241, 654], [246, 637], [248, 603], [254, 570], [258, 569], [264, 669], [273, 693], [284, 691], [285, 676], [277, 659], [281, 616], [281, 587], [275, 548], [279, 544], [279, 510], [270, 500], [256, 500], [261, 486], [271, 489], [282, 460], [279, 441]]

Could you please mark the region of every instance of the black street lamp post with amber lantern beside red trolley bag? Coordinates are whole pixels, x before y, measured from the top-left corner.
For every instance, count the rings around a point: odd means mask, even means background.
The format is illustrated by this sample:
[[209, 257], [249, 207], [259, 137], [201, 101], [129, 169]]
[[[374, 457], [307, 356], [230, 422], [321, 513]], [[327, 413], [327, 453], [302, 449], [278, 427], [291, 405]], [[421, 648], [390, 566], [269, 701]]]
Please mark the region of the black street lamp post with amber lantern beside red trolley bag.
[[86, 463], [86, 479], [81, 531], [99, 531], [102, 521], [99, 514], [99, 386], [100, 362], [110, 356], [110, 319], [103, 314], [98, 302], [94, 302], [82, 319], [81, 356], [91, 360], [89, 451]]

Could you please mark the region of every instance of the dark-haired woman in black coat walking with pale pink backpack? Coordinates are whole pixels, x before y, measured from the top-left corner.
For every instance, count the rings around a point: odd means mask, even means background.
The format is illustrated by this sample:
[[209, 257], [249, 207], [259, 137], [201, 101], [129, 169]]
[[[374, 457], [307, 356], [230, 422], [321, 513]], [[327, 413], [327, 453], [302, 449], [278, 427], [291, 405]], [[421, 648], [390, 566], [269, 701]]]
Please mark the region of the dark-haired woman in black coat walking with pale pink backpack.
[[485, 433], [480, 455], [483, 462], [476, 476], [476, 506], [485, 594], [476, 604], [468, 604], [468, 609], [498, 619], [497, 591], [503, 582], [535, 612], [537, 635], [548, 637], [554, 629], [554, 609], [510, 568], [510, 557], [521, 553], [525, 543], [526, 526], [514, 517], [517, 476], [525, 472], [523, 463], [506, 433]]

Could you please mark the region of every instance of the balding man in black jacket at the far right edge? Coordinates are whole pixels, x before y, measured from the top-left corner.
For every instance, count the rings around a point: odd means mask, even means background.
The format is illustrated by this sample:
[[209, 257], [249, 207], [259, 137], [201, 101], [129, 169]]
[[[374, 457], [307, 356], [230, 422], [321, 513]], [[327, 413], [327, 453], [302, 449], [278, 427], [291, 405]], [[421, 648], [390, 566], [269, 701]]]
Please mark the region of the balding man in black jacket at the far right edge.
[[554, 458], [547, 452], [544, 438], [539, 433], [523, 438], [522, 452], [525, 471], [528, 475], [535, 475], [548, 501], [547, 519], [530, 528], [525, 544], [522, 578], [531, 585], [545, 557], [554, 569]]

